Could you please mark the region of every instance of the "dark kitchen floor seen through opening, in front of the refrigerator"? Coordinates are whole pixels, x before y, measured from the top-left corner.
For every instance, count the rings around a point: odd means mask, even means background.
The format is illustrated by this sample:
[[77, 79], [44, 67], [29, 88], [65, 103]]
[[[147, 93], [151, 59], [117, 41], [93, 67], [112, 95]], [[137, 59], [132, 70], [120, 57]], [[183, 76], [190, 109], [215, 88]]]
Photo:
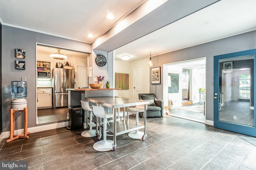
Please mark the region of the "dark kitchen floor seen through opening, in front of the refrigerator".
[[37, 116], [40, 124], [68, 120], [68, 107], [38, 109]]

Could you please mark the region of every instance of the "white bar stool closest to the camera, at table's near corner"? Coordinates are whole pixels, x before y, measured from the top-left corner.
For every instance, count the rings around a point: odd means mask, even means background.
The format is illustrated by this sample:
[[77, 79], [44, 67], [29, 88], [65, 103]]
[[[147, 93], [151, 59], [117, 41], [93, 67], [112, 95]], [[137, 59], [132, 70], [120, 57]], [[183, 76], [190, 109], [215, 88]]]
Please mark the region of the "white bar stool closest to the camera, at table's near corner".
[[[108, 150], [113, 150], [114, 149], [114, 142], [111, 140], [107, 140], [107, 119], [110, 117], [113, 117], [114, 114], [105, 112], [103, 107], [98, 107], [98, 106], [92, 106], [93, 107], [93, 114], [96, 115], [97, 117], [103, 118], [103, 141], [98, 141], [94, 143], [93, 149], [101, 152], [105, 152]], [[101, 124], [101, 121], [100, 123]]]

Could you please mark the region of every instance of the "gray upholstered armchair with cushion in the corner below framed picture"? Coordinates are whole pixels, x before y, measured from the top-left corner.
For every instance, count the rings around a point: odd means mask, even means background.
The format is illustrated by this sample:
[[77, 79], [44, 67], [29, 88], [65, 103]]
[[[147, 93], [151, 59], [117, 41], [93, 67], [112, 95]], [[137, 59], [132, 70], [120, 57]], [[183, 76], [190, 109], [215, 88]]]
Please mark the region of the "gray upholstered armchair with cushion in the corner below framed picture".
[[[147, 117], [164, 117], [164, 101], [157, 100], [153, 93], [140, 93], [139, 100], [149, 100], [147, 108]], [[144, 117], [144, 112], [140, 113]]]

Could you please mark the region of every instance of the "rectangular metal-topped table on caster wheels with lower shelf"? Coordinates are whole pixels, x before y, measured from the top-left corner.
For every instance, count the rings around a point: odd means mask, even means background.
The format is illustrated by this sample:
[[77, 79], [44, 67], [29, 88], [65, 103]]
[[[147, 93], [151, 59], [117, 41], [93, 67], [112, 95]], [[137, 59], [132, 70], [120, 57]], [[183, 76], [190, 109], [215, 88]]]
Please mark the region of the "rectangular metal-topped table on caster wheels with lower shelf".
[[[102, 96], [102, 97], [85, 97], [85, 100], [88, 102], [92, 102], [96, 104], [96, 106], [105, 106], [111, 108], [112, 113], [114, 113], [113, 120], [109, 121], [109, 125], [107, 125], [107, 130], [110, 134], [113, 135], [113, 145], [112, 150], [116, 150], [116, 136], [122, 135], [124, 133], [128, 133], [131, 131], [135, 131], [137, 129], [144, 128], [144, 135], [142, 136], [142, 141], [146, 140], [146, 108], [147, 105], [150, 104], [148, 100], [138, 100], [134, 98], [124, 98], [118, 96]], [[131, 106], [144, 105], [144, 123], [138, 123], [134, 120], [125, 119], [125, 108]], [[117, 118], [117, 111], [120, 108], [123, 108], [123, 117]], [[100, 123], [99, 123], [100, 124]], [[96, 125], [98, 123], [96, 122]], [[97, 126], [96, 126], [97, 131]]]

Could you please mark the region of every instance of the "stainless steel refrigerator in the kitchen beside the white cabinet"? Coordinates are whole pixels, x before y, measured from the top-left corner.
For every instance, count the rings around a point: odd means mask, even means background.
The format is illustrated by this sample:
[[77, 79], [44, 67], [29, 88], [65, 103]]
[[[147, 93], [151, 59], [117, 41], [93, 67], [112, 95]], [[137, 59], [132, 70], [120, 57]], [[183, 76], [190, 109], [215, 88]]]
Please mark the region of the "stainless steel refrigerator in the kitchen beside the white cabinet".
[[67, 88], [74, 88], [74, 69], [53, 69], [53, 107], [68, 106]]

